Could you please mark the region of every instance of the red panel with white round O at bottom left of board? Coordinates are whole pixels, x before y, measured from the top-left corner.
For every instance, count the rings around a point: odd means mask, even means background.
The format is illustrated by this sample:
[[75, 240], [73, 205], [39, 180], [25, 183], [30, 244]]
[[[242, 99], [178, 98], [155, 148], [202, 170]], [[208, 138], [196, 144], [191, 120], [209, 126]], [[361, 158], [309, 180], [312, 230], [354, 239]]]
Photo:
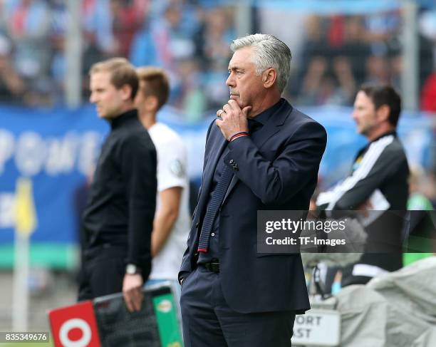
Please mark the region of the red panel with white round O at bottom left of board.
[[50, 311], [48, 318], [55, 347], [100, 347], [90, 300]]

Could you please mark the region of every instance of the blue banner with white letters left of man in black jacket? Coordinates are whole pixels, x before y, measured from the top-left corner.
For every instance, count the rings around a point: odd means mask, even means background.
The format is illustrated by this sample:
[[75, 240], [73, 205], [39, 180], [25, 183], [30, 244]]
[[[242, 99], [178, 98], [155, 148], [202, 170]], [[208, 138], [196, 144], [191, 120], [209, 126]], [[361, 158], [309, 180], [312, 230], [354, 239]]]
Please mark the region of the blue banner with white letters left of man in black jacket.
[[75, 111], [0, 109], [0, 242], [11, 242], [19, 177], [33, 185], [35, 242], [74, 242], [75, 190], [92, 170], [108, 125], [92, 108]]

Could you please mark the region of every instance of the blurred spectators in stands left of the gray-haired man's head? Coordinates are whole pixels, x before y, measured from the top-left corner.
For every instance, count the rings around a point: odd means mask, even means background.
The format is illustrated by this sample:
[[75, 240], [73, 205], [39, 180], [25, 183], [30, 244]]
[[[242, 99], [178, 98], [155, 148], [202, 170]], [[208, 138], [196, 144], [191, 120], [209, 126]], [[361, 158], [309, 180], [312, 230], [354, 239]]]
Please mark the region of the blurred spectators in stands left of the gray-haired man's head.
[[[81, 1], [83, 97], [90, 66], [124, 56], [165, 68], [170, 104], [192, 120], [220, 105], [235, 33], [229, 8], [209, 2], [216, 1]], [[68, 16], [66, 0], [0, 0], [0, 102], [63, 102]]]

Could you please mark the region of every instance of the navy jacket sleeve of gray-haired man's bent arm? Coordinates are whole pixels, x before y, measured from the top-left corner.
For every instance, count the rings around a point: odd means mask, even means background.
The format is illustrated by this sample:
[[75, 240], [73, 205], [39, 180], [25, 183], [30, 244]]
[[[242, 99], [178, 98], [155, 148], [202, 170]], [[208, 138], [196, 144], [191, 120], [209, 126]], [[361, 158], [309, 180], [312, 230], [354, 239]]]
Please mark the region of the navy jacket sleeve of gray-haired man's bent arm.
[[313, 172], [318, 172], [326, 141], [326, 130], [312, 121], [296, 129], [273, 161], [266, 160], [247, 136], [229, 143], [224, 162], [237, 162], [239, 170], [234, 174], [264, 204], [281, 204], [291, 200], [312, 179]]

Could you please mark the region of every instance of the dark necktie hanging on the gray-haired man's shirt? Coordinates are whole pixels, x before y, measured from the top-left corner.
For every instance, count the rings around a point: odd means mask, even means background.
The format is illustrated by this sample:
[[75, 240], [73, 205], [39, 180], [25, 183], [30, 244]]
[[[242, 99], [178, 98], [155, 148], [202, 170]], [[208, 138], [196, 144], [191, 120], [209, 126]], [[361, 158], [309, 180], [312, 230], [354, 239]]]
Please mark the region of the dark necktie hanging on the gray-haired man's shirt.
[[198, 252], [207, 253], [207, 251], [209, 250], [210, 232], [212, 232], [214, 219], [215, 217], [217, 217], [219, 206], [221, 206], [222, 200], [224, 200], [224, 195], [226, 195], [227, 188], [230, 185], [232, 177], [232, 167], [224, 165], [221, 177], [219, 177], [219, 182], [217, 182], [217, 186], [212, 193], [212, 198], [207, 205], [206, 214], [204, 215], [202, 232], [200, 233], [198, 243]]

